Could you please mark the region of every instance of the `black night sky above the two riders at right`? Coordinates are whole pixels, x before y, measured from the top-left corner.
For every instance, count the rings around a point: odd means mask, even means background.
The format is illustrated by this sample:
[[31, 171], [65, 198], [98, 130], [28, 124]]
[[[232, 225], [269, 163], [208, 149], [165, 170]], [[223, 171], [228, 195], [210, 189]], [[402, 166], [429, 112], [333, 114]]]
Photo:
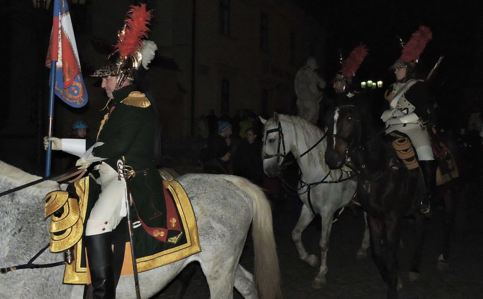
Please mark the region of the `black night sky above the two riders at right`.
[[[400, 56], [399, 40], [407, 40], [419, 25], [433, 32], [421, 56], [421, 69], [431, 69], [445, 58], [434, 84], [446, 93], [461, 87], [482, 88], [483, 22], [479, 1], [437, 0], [295, 0], [320, 20], [327, 33], [325, 77], [335, 74], [338, 49], [347, 57], [354, 46], [365, 43], [369, 55], [358, 75], [361, 79], [394, 80], [387, 68]], [[423, 72], [424, 73], [424, 72]]]

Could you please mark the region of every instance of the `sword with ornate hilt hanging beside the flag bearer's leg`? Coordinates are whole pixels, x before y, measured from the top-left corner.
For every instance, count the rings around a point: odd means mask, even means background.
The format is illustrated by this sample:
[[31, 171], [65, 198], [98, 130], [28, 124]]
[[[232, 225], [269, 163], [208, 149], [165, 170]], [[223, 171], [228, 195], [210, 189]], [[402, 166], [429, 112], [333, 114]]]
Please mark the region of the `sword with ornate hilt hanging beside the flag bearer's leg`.
[[132, 226], [132, 218], [131, 218], [129, 187], [127, 186], [127, 181], [130, 181], [134, 177], [135, 172], [132, 170], [130, 166], [126, 166], [126, 160], [124, 156], [121, 157], [121, 160], [118, 160], [118, 173], [119, 173], [118, 180], [121, 181], [121, 178], [124, 178], [127, 227], [129, 229], [129, 241], [131, 244], [132, 272], [134, 274], [134, 286], [136, 289], [136, 298], [141, 299], [141, 290], [139, 289], [139, 276], [137, 272], [136, 256], [134, 255], [134, 229]]

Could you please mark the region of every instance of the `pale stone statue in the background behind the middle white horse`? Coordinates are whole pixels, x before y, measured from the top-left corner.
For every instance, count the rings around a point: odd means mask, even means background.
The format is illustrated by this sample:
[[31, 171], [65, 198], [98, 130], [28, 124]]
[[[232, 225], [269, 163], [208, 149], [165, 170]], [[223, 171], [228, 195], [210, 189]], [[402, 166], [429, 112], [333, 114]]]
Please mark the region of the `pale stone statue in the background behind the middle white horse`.
[[313, 124], [319, 120], [319, 103], [322, 101], [322, 89], [325, 88], [325, 81], [316, 73], [317, 69], [317, 60], [310, 56], [294, 79], [297, 115]]

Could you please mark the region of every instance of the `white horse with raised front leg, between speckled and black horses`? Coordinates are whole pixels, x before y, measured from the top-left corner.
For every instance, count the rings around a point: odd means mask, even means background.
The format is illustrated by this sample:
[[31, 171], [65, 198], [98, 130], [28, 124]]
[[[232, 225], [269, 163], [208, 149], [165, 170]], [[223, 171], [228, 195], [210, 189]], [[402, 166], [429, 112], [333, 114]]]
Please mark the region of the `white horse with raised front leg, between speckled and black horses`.
[[298, 116], [277, 113], [269, 120], [262, 119], [262, 122], [265, 124], [262, 150], [265, 173], [269, 177], [280, 175], [282, 158], [289, 152], [299, 165], [301, 177], [297, 193], [304, 205], [292, 230], [292, 239], [299, 258], [313, 267], [318, 266], [319, 259], [305, 251], [302, 232], [316, 214], [322, 218], [319, 242], [321, 265], [312, 284], [314, 288], [321, 288], [325, 284], [327, 273], [327, 251], [333, 215], [337, 209], [351, 201], [357, 182], [341, 170], [330, 171], [325, 164], [324, 149], [327, 141], [324, 138], [325, 133], [319, 127]]

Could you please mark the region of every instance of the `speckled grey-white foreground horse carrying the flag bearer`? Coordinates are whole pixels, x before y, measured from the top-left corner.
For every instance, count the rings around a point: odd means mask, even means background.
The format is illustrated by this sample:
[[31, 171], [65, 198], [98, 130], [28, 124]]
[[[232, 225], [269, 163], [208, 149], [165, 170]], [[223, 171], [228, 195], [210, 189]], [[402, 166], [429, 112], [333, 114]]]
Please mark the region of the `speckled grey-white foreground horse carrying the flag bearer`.
[[[0, 190], [39, 179], [0, 161]], [[211, 298], [233, 298], [235, 287], [244, 298], [281, 298], [280, 269], [270, 204], [249, 181], [228, 175], [192, 174], [177, 181], [188, 193], [195, 212], [201, 252], [186, 259], [139, 273], [142, 298], [156, 295], [187, 264], [198, 261]], [[0, 267], [23, 264], [48, 244], [43, 196], [58, 189], [44, 182], [0, 197]], [[255, 275], [240, 264], [252, 224]], [[63, 255], [44, 252], [36, 263], [59, 262]], [[63, 285], [63, 266], [21, 269], [0, 276], [0, 297], [82, 298], [83, 286]], [[257, 292], [258, 290], [258, 292]], [[117, 298], [135, 298], [132, 276], [122, 276]]]

